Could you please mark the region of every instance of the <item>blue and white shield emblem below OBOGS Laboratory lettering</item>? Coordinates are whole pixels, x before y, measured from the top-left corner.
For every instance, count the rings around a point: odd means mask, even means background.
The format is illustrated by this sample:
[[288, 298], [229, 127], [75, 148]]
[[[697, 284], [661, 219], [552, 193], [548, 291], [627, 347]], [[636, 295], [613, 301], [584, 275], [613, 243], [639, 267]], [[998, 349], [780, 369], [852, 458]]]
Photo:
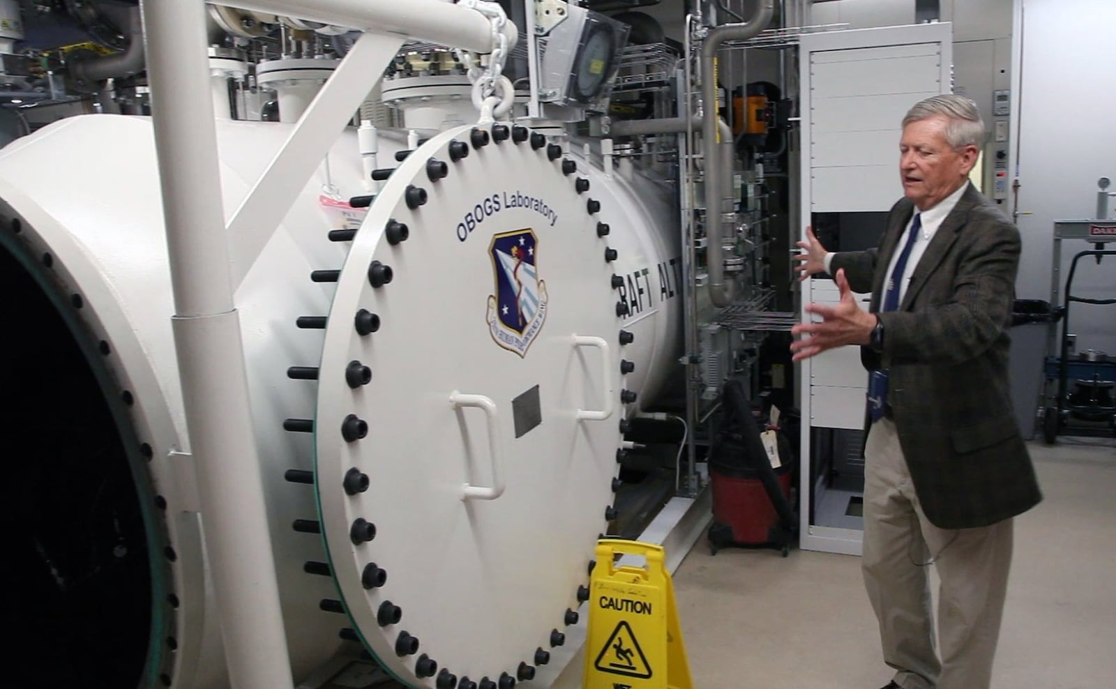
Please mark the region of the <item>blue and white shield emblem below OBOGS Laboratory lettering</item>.
[[547, 285], [536, 270], [537, 248], [529, 229], [497, 234], [489, 245], [496, 294], [489, 295], [484, 320], [492, 340], [520, 357], [547, 318]]

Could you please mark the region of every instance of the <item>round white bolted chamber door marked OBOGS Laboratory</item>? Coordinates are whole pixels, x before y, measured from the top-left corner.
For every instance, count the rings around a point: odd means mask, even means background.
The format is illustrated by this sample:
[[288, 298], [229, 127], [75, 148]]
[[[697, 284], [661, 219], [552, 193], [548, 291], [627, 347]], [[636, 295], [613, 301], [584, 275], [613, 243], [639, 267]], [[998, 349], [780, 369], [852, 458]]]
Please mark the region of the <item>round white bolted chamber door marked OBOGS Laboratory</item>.
[[588, 187], [539, 133], [451, 129], [338, 275], [315, 419], [334, 606], [407, 683], [530, 679], [576, 621], [632, 366]]

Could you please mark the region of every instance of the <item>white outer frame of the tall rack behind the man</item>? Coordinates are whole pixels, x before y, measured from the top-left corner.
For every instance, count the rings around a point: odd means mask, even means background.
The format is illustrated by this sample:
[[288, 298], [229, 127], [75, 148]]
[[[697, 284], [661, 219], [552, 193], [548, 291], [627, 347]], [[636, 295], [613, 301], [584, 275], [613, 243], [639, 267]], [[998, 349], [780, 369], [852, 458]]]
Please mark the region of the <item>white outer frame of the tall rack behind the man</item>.
[[[801, 37], [799, 43], [799, 84], [801, 86], [800, 111], [801, 118], [801, 146], [800, 154], [800, 179], [801, 194], [799, 196], [799, 211], [802, 225], [799, 229], [801, 239], [806, 239], [806, 225], [809, 224], [812, 206], [812, 165], [811, 165], [811, 88], [810, 88], [810, 54], [828, 50], [846, 50], [857, 48], [882, 48], [887, 46], [904, 46], [915, 43], [937, 42], [941, 45], [941, 85], [942, 93], [950, 93], [953, 86], [953, 26], [949, 22], [927, 23], [906, 27], [885, 27], [878, 29], [856, 29], [850, 31], [827, 31], [824, 33], [807, 33]], [[914, 105], [913, 103], [911, 105]], [[898, 142], [896, 142], [896, 152]], [[897, 162], [897, 158], [896, 158]], [[897, 174], [897, 173], [896, 173]], [[883, 208], [886, 211], [886, 208]], [[814, 300], [812, 281], [802, 283], [801, 302], [805, 307]], [[810, 318], [806, 311], [801, 311], [804, 320]], [[841, 553], [846, 555], [859, 555], [863, 541], [863, 532], [856, 528], [840, 528], [833, 526], [820, 526], [810, 523], [812, 513], [815, 486], [810, 474], [810, 431], [814, 428], [811, 419], [811, 381], [812, 360], [807, 359], [801, 362], [798, 380], [799, 394], [801, 396], [802, 429], [801, 429], [801, 453], [799, 486], [799, 546], [802, 550], [821, 551], [828, 553]], [[867, 373], [865, 373], [867, 379]]]

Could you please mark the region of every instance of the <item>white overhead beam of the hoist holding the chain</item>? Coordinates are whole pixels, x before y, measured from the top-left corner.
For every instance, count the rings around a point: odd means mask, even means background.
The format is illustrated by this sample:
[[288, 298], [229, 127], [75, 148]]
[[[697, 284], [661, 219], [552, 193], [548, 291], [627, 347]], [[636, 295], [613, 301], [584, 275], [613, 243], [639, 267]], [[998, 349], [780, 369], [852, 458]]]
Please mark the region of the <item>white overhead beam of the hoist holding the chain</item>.
[[[492, 51], [489, 20], [475, 10], [444, 0], [214, 0], [214, 4], [397, 33], [474, 52]], [[504, 26], [511, 50], [516, 25], [509, 21]]]

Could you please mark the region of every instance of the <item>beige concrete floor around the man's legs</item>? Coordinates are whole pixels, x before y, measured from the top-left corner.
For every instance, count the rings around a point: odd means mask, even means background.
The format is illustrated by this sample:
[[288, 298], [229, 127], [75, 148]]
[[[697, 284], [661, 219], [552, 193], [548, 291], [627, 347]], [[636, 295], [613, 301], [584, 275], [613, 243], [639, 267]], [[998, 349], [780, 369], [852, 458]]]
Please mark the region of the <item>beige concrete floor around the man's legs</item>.
[[[1116, 686], [1116, 441], [1031, 444], [1043, 502], [1020, 516], [994, 686]], [[878, 689], [860, 560], [704, 538], [674, 575], [694, 687]]]

